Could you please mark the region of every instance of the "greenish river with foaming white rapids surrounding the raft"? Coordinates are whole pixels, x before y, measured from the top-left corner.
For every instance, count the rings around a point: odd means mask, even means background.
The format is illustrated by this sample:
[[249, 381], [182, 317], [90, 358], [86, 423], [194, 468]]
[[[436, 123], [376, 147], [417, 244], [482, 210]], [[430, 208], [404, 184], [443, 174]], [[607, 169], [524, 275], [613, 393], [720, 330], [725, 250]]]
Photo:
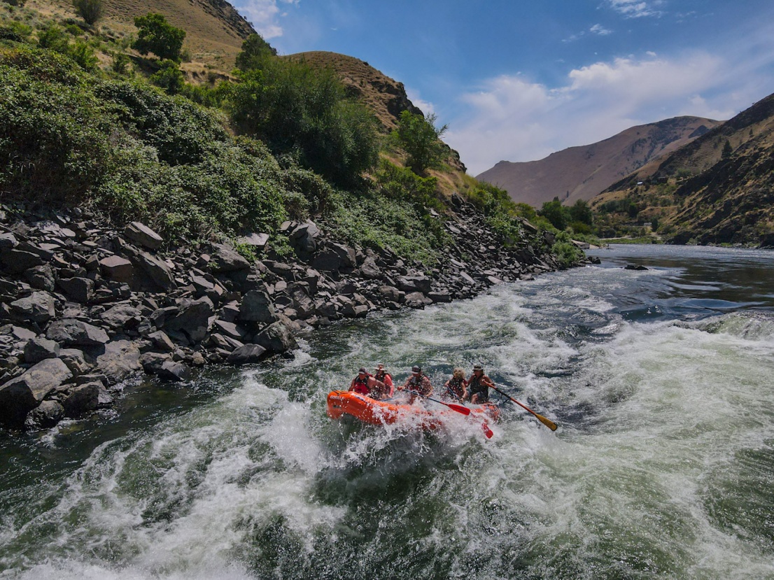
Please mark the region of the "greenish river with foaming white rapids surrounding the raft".
[[[595, 255], [0, 435], [0, 578], [774, 578], [774, 252]], [[379, 362], [481, 363], [560, 427], [327, 418]]]

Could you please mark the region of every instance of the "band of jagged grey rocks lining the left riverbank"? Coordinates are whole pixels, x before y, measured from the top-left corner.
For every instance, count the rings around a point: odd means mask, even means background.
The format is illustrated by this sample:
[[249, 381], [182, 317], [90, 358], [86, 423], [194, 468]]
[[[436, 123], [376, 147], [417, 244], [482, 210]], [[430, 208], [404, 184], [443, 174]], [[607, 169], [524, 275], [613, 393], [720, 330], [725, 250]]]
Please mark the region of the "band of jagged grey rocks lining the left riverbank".
[[[286, 222], [295, 255], [269, 235], [173, 246], [142, 223], [0, 208], [0, 425], [47, 428], [110, 406], [138, 373], [185, 381], [213, 363], [292, 356], [294, 336], [377, 309], [470, 298], [502, 281], [556, 269], [550, 234], [529, 223], [504, 251], [483, 218], [455, 199], [447, 260], [423, 271], [391, 251], [348, 247], [315, 223]], [[437, 219], [441, 219], [440, 216]]]

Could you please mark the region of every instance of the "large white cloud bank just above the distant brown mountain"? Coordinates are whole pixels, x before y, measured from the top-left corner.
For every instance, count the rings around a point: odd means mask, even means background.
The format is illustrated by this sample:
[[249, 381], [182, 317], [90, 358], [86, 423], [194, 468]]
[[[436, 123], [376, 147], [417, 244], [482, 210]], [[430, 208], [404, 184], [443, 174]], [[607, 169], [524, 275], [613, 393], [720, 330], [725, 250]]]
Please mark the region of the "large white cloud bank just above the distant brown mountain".
[[730, 118], [761, 94], [744, 75], [720, 57], [691, 53], [594, 63], [571, 70], [559, 87], [497, 77], [464, 95], [467, 111], [444, 140], [478, 175], [503, 159], [542, 159], [633, 125], [683, 114]]

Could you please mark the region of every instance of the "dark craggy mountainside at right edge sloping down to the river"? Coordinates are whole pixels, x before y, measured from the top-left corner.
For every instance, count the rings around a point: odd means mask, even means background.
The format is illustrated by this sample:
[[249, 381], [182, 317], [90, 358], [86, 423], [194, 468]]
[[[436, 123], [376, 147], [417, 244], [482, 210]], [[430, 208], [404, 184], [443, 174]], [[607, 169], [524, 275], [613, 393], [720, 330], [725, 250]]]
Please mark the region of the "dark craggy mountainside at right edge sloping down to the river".
[[591, 204], [606, 218], [611, 209], [636, 206], [638, 219], [655, 217], [659, 234], [674, 244], [774, 246], [774, 94]]

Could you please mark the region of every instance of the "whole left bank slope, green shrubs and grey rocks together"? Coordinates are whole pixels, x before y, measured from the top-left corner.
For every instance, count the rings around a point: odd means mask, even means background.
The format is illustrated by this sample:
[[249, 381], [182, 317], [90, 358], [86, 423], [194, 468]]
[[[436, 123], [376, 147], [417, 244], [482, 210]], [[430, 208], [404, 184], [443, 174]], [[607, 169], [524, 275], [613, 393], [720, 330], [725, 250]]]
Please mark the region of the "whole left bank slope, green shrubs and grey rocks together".
[[[155, 27], [139, 46], [0, 8], [7, 428], [87, 416], [138, 373], [289, 356], [317, 326], [585, 261], [455, 169], [433, 118], [404, 109], [387, 131], [332, 71], [257, 35], [232, 73], [190, 84], [159, 15], [137, 19]], [[165, 30], [173, 46], [150, 43]]]

